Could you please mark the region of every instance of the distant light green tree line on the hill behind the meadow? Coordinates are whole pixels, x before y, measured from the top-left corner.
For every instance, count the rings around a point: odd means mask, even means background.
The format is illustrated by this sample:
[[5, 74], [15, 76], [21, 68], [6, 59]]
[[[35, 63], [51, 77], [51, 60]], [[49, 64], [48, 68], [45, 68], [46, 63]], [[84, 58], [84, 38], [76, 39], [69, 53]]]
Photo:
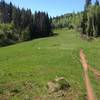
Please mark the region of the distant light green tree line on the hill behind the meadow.
[[83, 12], [68, 13], [52, 19], [53, 28], [68, 28], [80, 30]]

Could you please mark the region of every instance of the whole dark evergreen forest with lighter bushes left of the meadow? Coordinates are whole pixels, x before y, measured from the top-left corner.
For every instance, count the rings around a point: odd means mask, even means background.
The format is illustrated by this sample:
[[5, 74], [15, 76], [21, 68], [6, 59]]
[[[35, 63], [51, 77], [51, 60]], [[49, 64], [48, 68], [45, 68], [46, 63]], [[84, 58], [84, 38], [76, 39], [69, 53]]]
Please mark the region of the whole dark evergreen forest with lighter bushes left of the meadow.
[[51, 18], [45, 12], [20, 9], [11, 2], [0, 1], [0, 46], [52, 34]]

